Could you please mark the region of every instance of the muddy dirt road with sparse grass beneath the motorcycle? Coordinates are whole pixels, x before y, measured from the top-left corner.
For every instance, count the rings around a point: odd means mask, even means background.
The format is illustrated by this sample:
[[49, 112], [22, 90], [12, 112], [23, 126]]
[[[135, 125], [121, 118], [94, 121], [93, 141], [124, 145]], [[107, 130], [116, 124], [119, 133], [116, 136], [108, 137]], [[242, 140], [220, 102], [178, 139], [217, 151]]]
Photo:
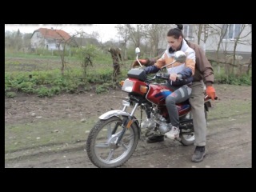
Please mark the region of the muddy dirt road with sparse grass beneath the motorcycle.
[[[169, 139], [149, 144], [142, 138], [122, 168], [251, 167], [251, 86], [214, 87], [219, 99], [212, 102], [208, 114], [207, 154], [202, 162], [191, 162], [194, 146]], [[5, 98], [5, 167], [95, 168], [85, 150], [88, 130], [99, 115], [122, 109], [125, 97], [121, 90], [110, 90]], [[42, 140], [49, 130], [48, 142], [31, 141]]]

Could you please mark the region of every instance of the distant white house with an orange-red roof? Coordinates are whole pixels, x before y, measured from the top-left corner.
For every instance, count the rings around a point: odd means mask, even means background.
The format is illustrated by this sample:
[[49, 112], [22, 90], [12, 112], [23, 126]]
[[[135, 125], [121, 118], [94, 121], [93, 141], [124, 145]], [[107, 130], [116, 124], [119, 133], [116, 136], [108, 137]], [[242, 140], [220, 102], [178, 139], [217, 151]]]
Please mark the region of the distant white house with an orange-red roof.
[[71, 41], [70, 34], [64, 30], [54, 30], [53, 28], [39, 28], [34, 30], [30, 38], [31, 48], [41, 48], [46, 50], [63, 50], [64, 44]]

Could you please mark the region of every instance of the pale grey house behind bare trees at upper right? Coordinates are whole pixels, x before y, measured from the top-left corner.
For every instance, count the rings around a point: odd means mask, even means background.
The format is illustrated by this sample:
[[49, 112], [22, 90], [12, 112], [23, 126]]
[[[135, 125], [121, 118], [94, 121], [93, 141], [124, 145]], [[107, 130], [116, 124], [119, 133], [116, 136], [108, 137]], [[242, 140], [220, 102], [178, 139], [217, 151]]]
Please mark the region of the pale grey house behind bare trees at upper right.
[[[182, 33], [184, 38], [190, 42], [198, 43], [198, 26], [198, 24], [183, 24]], [[216, 50], [219, 50], [222, 54], [233, 54], [235, 39], [239, 36], [241, 39], [239, 39], [236, 46], [236, 54], [242, 55], [242, 58], [245, 59], [250, 58], [252, 52], [250, 24], [206, 24], [201, 26], [203, 28], [201, 40], [198, 44], [206, 51], [206, 54], [214, 55]], [[243, 28], [244, 26], [245, 28]], [[224, 30], [226, 30], [225, 35], [222, 34]], [[204, 31], [206, 31], [206, 36]], [[242, 33], [239, 35], [240, 32]], [[223, 35], [222, 41], [220, 41], [221, 35]], [[219, 49], [218, 42], [220, 42]], [[158, 53], [162, 52], [162, 50], [166, 50], [166, 47], [166, 39], [162, 39], [158, 44]]]

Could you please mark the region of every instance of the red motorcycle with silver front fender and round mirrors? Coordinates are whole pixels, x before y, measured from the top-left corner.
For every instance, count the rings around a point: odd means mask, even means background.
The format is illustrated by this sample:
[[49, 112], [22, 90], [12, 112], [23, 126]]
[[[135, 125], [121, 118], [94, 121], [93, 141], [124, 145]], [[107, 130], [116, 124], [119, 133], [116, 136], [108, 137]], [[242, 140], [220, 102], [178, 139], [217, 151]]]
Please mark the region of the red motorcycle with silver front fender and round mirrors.
[[[174, 54], [174, 61], [163, 66], [160, 73], [153, 78], [147, 78], [142, 70], [143, 66], [138, 60], [140, 50], [135, 49], [136, 59], [140, 68], [128, 71], [125, 81], [121, 82], [122, 91], [128, 93], [128, 97], [122, 100], [122, 110], [110, 110], [99, 117], [98, 122], [90, 130], [86, 141], [86, 152], [90, 161], [99, 168], [114, 168], [122, 166], [134, 153], [138, 140], [142, 136], [152, 134], [163, 135], [170, 123], [165, 99], [172, 90], [165, 83], [154, 80], [169, 79], [170, 74], [162, 73], [166, 66], [174, 62], [185, 62], [186, 54], [181, 50]], [[179, 80], [182, 80], [181, 78]], [[215, 98], [217, 99], [217, 97]], [[210, 98], [205, 95], [205, 117], [211, 107]], [[194, 143], [194, 126], [189, 100], [176, 104], [180, 120], [179, 138], [175, 138], [182, 145], [188, 146]], [[131, 111], [128, 107], [132, 106]], [[141, 122], [135, 117], [135, 111], [141, 109]], [[142, 122], [142, 111], [146, 113], [146, 119]], [[142, 129], [146, 130], [142, 135]]]

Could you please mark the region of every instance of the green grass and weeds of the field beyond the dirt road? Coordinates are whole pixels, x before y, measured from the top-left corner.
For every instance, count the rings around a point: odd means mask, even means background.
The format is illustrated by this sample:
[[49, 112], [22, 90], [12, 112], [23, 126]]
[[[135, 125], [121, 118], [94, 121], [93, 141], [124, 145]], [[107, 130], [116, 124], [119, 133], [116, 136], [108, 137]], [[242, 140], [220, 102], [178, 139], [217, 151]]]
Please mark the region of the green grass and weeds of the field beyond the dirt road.
[[[5, 94], [14, 97], [14, 92], [38, 94], [39, 97], [51, 97], [54, 94], [71, 93], [90, 90], [88, 87], [97, 85], [96, 92], [102, 93], [113, 86], [113, 63], [110, 54], [98, 51], [92, 58], [93, 66], [82, 68], [82, 60], [66, 56], [64, 76], [61, 74], [61, 58], [50, 55], [5, 54]], [[121, 76], [118, 82], [127, 77], [131, 63], [134, 60], [120, 62]], [[215, 66], [214, 66], [215, 67]], [[216, 67], [215, 67], [216, 68]], [[216, 69], [214, 68], [214, 71]], [[33, 78], [29, 78], [29, 77]], [[250, 75], [242, 77], [227, 76], [223, 68], [221, 73], [215, 72], [215, 82], [234, 85], [251, 85]], [[104, 84], [104, 85], [103, 85]], [[95, 87], [94, 87], [95, 88]], [[110, 87], [111, 88], [111, 87]]]

